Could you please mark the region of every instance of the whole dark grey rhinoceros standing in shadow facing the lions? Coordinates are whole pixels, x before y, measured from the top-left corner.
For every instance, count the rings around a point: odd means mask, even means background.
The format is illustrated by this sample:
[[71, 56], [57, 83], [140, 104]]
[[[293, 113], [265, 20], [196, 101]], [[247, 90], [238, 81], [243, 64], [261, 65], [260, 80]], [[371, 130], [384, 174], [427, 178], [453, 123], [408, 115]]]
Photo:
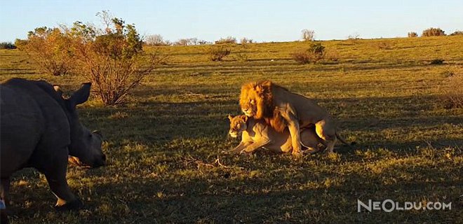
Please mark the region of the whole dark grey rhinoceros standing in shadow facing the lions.
[[34, 167], [45, 174], [58, 197], [58, 210], [80, 209], [83, 204], [66, 180], [68, 156], [81, 165], [105, 165], [102, 139], [79, 122], [76, 105], [86, 102], [91, 83], [83, 83], [71, 97], [43, 80], [12, 78], [0, 85], [0, 209], [7, 223], [5, 198], [11, 175]]

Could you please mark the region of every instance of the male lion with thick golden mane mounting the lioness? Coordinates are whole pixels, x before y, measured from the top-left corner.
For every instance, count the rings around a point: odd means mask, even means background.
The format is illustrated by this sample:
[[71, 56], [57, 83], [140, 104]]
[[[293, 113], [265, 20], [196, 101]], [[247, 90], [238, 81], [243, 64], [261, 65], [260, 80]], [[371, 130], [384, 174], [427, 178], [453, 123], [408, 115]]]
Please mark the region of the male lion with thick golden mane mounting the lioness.
[[347, 144], [337, 133], [335, 122], [325, 109], [313, 100], [290, 92], [269, 80], [244, 84], [241, 87], [239, 104], [246, 116], [263, 119], [278, 132], [283, 132], [288, 127], [293, 155], [301, 153], [299, 130], [309, 125], [315, 125], [316, 134], [323, 139], [329, 153], [333, 153], [336, 138]]

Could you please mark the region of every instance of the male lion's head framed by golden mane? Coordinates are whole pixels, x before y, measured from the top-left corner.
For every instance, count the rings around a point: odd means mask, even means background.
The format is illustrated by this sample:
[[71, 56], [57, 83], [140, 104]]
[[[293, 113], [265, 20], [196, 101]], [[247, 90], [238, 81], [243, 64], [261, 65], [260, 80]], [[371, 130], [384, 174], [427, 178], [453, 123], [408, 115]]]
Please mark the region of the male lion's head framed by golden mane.
[[271, 85], [269, 80], [264, 80], [241, 87], [239, 105], [246, 116], [261, 119], [266, 113], [273, 113]]

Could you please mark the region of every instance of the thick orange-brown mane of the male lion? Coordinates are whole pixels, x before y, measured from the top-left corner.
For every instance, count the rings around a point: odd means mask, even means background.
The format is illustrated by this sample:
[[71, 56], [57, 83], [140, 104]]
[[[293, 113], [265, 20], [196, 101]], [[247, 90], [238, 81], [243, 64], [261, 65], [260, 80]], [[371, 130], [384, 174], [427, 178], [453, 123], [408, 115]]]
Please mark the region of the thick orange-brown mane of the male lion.
[[283, 132], [288, 125], [274, 104], [274, 92], [277, 88], [286, 90], [286, 88], [271, 83], [269, 80], [246, 83], [241, 87], [239, 103], [241, 108], [249, 107], [252, 106], [250, 99], [254, 99], [256, 111], [253, 118], [264, 119], [274, 130]]

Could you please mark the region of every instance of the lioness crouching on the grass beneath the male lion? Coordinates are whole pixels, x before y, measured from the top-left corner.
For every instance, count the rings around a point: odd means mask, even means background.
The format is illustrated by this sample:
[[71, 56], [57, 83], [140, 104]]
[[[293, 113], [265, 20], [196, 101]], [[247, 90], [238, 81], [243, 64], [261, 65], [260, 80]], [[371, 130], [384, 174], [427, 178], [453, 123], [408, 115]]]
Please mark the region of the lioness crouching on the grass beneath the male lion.
[[[290, 133], [288, 129], [283, 132], [276, 132], [270, 125], [262, 120], [255, 120], [247, 116], [228, 116], [230, 120], [229, 134], [231, 137], [238, 137], [241, 134], [241, 143], [231, 153], [251, 153], [258, 148], [267, 148], [277, 153], [288, 153], [293, 150]], [[317, 137], [315, 128], [306, 128], [300, 131], [302, 145], [316, 150], [304, 151], [304, 153], [316, 153], [324, 146], [318, 147], [321, 139]]]

